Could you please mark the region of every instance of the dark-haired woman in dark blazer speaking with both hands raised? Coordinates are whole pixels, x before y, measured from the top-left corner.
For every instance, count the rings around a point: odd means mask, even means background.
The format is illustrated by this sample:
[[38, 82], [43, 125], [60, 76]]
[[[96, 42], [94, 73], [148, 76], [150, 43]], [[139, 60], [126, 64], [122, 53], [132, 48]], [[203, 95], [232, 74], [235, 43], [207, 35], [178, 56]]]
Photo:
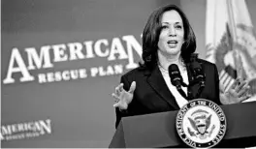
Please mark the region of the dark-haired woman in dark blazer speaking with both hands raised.
[[[121, 76], [121, 83], [112, 93], [116, 104], [116, 123], [121, 117], [178, 110], [199, 91], [200, 82], [182, 87], [181, 96], [171, 82], [169, 66], [176, 64], [184, 84], [192, 84], [192, 63], [200, 64], [204, 72], [204, 89], [197, 98], [216, 104], [239, 103], [247, 98], [247, 84], [233, 84], [229, 93], [219, 96], [217, 68], [208, 61], [198, 59], [194, 32], [182, 11], [168, 5], [154, 11], [148, 18], [143, 33], [144, 64]], [[237, 79], [237, 82], [239, 79]], [[230, 99], [236, 98], [236, 101]], [[222, 102], [221, 102], [222, 101]]]

